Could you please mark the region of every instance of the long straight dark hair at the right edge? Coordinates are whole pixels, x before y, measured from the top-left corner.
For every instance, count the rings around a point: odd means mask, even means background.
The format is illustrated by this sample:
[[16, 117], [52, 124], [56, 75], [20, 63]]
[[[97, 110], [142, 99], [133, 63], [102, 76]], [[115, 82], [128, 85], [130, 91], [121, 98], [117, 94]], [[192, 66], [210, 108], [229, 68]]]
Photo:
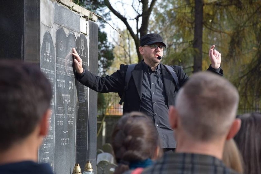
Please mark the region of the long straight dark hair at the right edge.
[[244, 172], [261, 174], [261, 113], [246, 113], [238, 118], [241, 128], [234, 139], [244, 160]]

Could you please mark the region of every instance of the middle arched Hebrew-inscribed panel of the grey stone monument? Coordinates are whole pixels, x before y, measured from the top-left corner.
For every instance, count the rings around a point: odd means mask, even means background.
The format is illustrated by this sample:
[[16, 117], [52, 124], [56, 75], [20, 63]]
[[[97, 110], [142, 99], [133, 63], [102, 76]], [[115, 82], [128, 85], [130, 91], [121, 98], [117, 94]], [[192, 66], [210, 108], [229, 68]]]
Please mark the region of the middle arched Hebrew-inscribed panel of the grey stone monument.
[[[55, 171], [66, 173], [75, 164], [76, 87], [72, 48], [76, 48], [73, 33], [63, 28], [56, 31], [56, 98], [55, 98]], [[65, 159], [65, 160], [63, 160]]]

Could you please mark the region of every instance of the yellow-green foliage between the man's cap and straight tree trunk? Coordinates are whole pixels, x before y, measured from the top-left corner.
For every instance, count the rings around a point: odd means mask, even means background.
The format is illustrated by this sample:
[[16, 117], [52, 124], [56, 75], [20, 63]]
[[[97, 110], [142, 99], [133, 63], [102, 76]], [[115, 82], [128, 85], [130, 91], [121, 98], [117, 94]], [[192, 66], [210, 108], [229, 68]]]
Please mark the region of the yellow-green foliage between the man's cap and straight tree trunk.
[[187, 1], [166, 0], [159, 2], [154, 9], [149, 30], [161, 34], [167, 44], [163, 63], [180, 65], [191, 73], [193, 57], [193, 6]]

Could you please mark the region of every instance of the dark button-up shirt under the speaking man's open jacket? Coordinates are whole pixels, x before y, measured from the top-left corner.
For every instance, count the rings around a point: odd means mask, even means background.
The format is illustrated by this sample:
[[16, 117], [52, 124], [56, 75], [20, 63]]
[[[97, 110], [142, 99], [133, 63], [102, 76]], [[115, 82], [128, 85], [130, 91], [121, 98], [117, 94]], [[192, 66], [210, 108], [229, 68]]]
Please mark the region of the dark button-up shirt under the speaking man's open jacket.
[[[174, 133], [168, 121], [168, 103], [160, 64], [155, 71], [143, 61], [141, 112], [154, 122], [163, 148], [175, 148]], [[171, 134], [168, 139], [167, 135]]]

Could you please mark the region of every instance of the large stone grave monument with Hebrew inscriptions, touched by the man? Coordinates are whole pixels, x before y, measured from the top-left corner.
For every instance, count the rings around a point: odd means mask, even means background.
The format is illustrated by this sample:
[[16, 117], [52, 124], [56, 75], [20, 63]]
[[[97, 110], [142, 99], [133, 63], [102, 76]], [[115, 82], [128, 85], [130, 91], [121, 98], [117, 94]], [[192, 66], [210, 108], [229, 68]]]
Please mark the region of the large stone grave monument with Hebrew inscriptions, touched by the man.
[[[72, 48], [97, 73], [97, 17], [70, 0], [1, 0], [0, 58], [37, 63], [52, 84], [49, 133], [38, 161], [54, 173], [96, 166], [97, 93], [75, 80]], [[96, 168], [94, 167], [94, 173]]]

